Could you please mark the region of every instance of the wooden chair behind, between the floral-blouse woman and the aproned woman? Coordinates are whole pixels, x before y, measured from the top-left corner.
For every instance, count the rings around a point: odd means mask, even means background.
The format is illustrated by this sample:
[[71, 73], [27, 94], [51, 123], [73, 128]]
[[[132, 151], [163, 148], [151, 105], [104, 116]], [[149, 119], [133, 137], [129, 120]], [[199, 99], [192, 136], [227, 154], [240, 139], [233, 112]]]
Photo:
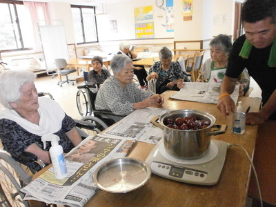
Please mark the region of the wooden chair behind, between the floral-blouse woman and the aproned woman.
[[199, 75], [199, 70], [202, 66], [202, 61], [204, 57], [204, 50], [201, 52], [195, 52], [193, 58], [188, 59], [188, 65], [186, 67], [186, 73], [190, 73], [193, 82], [197, 80]]

